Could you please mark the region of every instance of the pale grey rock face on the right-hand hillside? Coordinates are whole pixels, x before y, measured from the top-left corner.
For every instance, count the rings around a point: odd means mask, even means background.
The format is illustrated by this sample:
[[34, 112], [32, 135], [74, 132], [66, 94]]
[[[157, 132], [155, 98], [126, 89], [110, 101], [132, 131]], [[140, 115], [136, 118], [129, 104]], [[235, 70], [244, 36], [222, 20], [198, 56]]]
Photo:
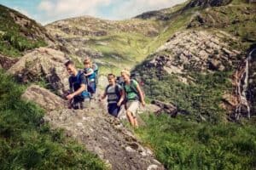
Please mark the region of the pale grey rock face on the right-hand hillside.
[[[158, 48], [148, 66], [158, 67], [169, 74], [186, 71], [224, 71], [230, 68], [241, 52], [231, 50], [223, 42], [222, 32], [181, 31]], [[231, 37], [230, 37], [231, 38]]]

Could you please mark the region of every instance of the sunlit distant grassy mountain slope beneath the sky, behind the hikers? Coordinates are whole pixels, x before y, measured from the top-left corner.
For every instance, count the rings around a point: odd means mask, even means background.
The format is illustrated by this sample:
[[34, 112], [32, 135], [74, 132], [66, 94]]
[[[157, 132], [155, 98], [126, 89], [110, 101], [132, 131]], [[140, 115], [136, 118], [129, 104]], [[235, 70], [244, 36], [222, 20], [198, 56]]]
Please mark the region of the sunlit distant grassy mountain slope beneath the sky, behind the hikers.
[[[163, 13], [172, 14], [183, 6], [166, 8]], [[101, 65], [102, 73], [119, 73], [123, 68], [131, 69], [139, 64], [166, 42], [174, 30], [189, 21], [187, 16], [172, 21], [159, 17], [150, 20], [143, 18], [137, 16], [131, 20], [111, 21], [84, 16], [56, 21], [46, 26], [46, 29], [67, 47], [71, 57], [78, 63], [81, 64], [87, 54]], [[179, 22], [180, 26], [170, 28], [172, 22]]]

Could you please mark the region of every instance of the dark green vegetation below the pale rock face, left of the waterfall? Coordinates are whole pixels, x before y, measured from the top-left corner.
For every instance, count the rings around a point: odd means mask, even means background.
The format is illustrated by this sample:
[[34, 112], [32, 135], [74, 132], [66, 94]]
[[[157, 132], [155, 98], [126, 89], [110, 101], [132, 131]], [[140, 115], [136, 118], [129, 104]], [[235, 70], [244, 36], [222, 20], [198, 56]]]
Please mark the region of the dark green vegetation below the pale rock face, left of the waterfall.
[[190, 72], [189, 84], [177, 76], [158, 71], [155, 68], [137, 68], [144, 81], [144, 90], [150, 99], [158, 99], [177, 105], [193, 120], [215, 123], [225, 119], [227, 112], [221, 106], [224, 92], [231, 91], [231, 72], [201, 74]]

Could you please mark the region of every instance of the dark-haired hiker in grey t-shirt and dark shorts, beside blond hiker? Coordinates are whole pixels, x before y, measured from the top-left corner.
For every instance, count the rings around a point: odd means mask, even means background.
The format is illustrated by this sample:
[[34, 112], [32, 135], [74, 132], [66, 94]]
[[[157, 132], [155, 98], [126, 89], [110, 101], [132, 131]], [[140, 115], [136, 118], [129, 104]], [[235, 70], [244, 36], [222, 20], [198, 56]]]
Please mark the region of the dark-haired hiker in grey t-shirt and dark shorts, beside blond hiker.
[[121, 85], [116, 83], [116, 77], [113, 74], [108, 74], [108, 82], [102, 99], [108, 96], [108, 113], [117, 117], [125, 99], [125, 93]]

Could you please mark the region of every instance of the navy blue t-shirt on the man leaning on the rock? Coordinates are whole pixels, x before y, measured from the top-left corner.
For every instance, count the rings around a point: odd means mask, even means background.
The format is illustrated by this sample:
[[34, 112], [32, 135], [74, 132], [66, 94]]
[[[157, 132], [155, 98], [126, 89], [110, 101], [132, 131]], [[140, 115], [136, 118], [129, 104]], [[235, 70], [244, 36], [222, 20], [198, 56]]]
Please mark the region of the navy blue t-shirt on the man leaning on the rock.
[[70, 90], [75, 92], [81, 88], [81, 84], [86, 85], [86, 78], [84, 77], [84, 73], [79, 72], [76, 77], [69, 77], [68, 82]]

